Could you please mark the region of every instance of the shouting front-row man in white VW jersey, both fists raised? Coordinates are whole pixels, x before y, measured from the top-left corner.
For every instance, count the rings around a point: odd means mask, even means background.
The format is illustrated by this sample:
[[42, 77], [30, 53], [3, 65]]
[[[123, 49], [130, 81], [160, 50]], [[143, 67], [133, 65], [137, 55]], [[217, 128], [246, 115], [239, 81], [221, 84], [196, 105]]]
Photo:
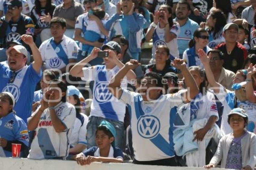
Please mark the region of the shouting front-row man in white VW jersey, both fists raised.
[[140, 93], [122, 89], [120, 85], [123, 77], [138, 65], [136, 60], [127, 62], [108, 85], [109, 91], [130, 110], [135, 150], [133, 163], [176, 166], [172, 131], [176, 109], [183, 102], [190, 102], [197, 95], [198, 87], [186, 68], [186, 63], [175, 59], [172, 65], [182, 72], [188, 91], [162, 95], [162, 79], [155, 72], [144, 75]]

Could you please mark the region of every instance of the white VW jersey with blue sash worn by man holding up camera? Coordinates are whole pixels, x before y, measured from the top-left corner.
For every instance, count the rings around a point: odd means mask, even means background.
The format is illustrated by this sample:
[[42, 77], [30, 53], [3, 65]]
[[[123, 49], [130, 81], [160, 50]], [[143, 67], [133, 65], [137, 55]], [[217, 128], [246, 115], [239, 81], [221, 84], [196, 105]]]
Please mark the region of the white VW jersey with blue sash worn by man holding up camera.
[[[123, 122], [125, 104], [116, 99], [108, 91], [108, 83], [120, 70], [117, 66], [107, 70], [105, 65], [95, 65], [83, 68], [83, 80], [94, 81], [92, 92], [92, 105], [90, 116], [104, 117], [107, 119]], [[127, 87], [127, 79], [121, 83], [121, 87]]]

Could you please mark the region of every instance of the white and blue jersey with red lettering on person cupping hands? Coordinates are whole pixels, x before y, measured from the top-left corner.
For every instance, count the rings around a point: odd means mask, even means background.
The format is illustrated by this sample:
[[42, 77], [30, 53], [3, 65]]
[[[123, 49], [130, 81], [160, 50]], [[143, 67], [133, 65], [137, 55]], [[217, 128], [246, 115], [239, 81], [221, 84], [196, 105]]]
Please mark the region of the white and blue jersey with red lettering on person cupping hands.
[[66, 129], [57, 133], [52, 124], [50, 110], [49, 108], [45, 109], [35, 129], [36, 136], [31, 144], [28, 158], [51, 159], [68, 156], [70, 135], [76, 118], [76, 110], [70, 103], [60, 102], [55, 106], [55, 112]]

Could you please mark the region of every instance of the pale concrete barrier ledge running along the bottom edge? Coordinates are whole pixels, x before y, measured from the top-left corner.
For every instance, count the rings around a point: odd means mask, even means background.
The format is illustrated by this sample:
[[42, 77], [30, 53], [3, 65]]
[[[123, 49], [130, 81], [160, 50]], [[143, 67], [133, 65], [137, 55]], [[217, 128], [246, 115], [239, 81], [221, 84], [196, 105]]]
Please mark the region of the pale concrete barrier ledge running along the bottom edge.
[[[131, 163], [100, 163], [77, 165], [75, 161], [32, 160], [23, 158], [0, 158], [1, 170], [203, 170], [195, 167], [170, 167], [155, 165], [135, 165]], [[217, 170], [220, 168], [211, 168]]]

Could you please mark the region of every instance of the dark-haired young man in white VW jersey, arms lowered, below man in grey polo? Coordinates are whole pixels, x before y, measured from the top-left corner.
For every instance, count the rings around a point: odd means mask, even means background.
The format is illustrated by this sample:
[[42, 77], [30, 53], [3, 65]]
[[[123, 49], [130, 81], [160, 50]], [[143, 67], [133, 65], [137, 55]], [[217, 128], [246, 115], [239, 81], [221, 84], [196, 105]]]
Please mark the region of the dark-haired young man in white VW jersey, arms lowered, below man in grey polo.
[[39, 47], [42, 60], [45, 62], [43, 69], [54, 69], [55, 75], [70, 70], [71, 64], [76, 62], [78, 45], [64, 35], [67, 28], [66, 20], [54, 17], [50, 22], [52, 38], [45, 40]]

